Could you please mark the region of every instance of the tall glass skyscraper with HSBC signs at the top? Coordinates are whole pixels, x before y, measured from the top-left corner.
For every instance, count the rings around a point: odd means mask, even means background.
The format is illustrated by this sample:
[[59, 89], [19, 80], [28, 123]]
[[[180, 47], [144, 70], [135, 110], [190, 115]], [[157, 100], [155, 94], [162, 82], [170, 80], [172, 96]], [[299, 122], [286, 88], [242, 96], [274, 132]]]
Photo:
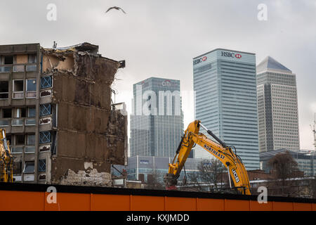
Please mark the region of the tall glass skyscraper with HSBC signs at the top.
[[[193, 81], [195, 118], [235, 146], [246, 169], [259, 169], [256, 55], [228, 49], [204, 53], [193, 58]], [[195, 158], [210, 154], [196, 147]]]

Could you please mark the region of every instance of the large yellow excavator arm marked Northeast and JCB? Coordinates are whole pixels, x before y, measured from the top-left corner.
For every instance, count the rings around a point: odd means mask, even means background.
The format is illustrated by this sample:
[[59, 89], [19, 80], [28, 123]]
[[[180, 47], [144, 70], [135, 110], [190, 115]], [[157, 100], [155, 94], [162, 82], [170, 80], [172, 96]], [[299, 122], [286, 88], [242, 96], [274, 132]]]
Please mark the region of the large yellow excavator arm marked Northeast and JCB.
[[[200, 127], [205, 129], [218, 143], [212, 141], [204, 134], [199, 133]], [[185, 161], [195, 144], [202, 146], [202, 148], [220, 160], [228, 169], [230, 188], [232, 188], [230, 181], [232, 177], [234, 188], [237, 189], [238, 193], [251, 195], [249, 177], [242, 163], [242, 159], [239, 158], [236, 152], [234, 153], [232, 151], [232, 146], [227, 146], [223, 141], [220, 141], [220, 139], [209, 129], [206, 129], [199, 120], [195, 120], [189, 124], [176, 150], [176, 156], [173, 158], [173, 162], [169, 163], [169, 172], [164, 176], [167, 190], [176, 189], [176, 184], [178, 183], [177, 179], [180, 176], [181, 169], [185, 165]]]

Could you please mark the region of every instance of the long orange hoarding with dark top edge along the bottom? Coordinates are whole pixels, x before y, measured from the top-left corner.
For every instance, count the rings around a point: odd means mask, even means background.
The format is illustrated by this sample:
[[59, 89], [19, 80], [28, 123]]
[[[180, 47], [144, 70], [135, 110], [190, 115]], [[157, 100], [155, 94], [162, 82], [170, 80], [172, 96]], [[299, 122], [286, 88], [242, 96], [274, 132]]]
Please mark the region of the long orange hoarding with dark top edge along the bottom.
[[268, 197], [259, 204], [254, 195], [80, 186], [54, 186], [54, 197], [48, 187], [0, 184], [0, 211], [316, 211], [315, 200], [304, 198]]

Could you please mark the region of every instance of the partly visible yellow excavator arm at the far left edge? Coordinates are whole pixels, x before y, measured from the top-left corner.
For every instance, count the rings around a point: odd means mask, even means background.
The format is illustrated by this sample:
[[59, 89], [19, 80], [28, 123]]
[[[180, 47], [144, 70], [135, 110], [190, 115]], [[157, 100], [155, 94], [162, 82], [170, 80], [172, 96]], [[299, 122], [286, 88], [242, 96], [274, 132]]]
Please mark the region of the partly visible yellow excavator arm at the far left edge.
[[4, 129], [0, 129], [0, 182], [13, 182], [13, 155]]

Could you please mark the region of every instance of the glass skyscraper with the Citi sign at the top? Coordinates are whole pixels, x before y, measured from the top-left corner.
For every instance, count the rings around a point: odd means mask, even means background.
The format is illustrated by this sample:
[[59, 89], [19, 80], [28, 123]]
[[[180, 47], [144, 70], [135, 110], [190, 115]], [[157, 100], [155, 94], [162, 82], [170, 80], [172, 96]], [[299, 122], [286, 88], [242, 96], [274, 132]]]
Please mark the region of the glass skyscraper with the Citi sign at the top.
[[150, 77], [133, 84], [131, 157], [174, 157], [182, 135], [180, 81]]

